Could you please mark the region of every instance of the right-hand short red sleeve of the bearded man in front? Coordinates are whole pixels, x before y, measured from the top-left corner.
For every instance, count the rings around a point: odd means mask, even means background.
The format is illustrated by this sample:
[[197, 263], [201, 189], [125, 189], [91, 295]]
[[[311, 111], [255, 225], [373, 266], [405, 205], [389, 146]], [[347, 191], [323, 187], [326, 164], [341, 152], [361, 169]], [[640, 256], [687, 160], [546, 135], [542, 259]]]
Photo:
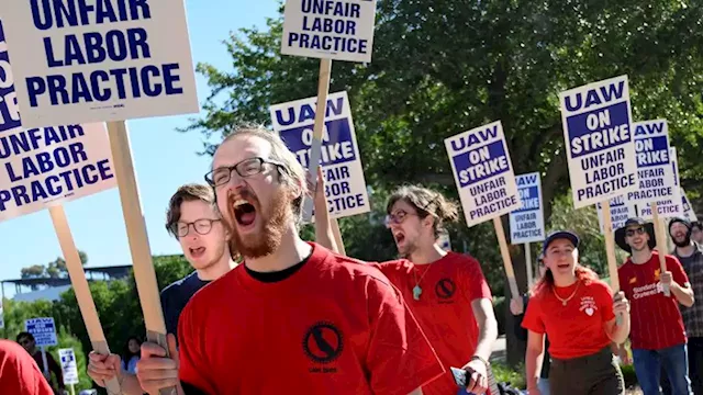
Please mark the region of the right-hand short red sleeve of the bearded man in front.
[[400, 292], [370, 278], [371, 338], [366, 356], [373, 394], [406, 395], [439, 377], [444, 368]]

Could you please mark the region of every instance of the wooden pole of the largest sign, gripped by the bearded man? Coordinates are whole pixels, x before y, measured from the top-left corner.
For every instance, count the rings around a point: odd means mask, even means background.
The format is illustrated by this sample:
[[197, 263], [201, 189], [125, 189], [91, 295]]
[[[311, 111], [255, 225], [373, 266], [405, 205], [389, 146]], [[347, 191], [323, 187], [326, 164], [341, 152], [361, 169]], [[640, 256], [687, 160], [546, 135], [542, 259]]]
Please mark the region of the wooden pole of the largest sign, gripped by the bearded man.
[[[144, 312], [146, 338], [148, 341], [161, 346], [166, 351], [166, 356], [168, 356], [166, 324], [156, 282], [156, 272], [152, 262], [146, 224], [142, 214], [142, 203], [134, 173], [126, 123], [124, 121], [109, 122], [108, 136], [110, 137], [110, 149], [112, 150], [114, 172], [118, 178], [122, 214], [124, 215], [124, 224], [126, 225], [127, 239], [130, 241], [134, 280], [140, 293], [142, 311]], [[176, 394], [176, 387], [164, 388], [160, 394]]]

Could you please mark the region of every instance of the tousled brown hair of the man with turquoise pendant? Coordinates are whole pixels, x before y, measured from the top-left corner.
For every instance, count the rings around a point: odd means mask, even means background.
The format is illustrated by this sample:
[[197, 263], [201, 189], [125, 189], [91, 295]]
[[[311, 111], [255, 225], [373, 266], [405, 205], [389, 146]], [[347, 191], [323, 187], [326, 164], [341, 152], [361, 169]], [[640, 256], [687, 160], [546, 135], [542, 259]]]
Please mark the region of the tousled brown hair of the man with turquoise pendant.
[[425, 218], [427, 215], [432, 215], [435, 218], [433, 225], [435, 237], [439, 236], [439, 232], [444, 229], [445, 223], [456, 222], [459, 218], [456, 203], [445, 199], [442, 193], [426, 188], [419, 185], [403, 185], [398, 188], [388, 199], [386, 212], [390, 214], [393, 205], [400, 200], [412, 205], [420, 218]]

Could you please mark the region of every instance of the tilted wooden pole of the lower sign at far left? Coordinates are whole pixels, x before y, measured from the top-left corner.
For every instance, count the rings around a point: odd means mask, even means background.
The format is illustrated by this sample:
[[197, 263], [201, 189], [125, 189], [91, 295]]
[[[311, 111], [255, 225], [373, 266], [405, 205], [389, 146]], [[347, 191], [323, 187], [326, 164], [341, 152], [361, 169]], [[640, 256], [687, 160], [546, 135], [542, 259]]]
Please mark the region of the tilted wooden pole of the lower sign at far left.
[[[110, 348], [108, 347], [105, 335], [102, 331], [102, 326], [100, 325], [96, 303], [90, 294], [88, 280], [86, 280], [86, 272], [83, 271], [82, 262], [80, 261], [80, 256], [78, 255], [78, 249], [74, 241], [74, 236], [70, 233], [64, 206], [58, 205], [49, 207], [48, 212], [52, 216], [52, 222], [54, 223], [58, 244], [60, 245], [62, 252], [66, 259], [68, 276], [70, 278], [70, 283], [74, 287], [74, 292], [76, 293], [80, 315], [86, 324], [86, 329], [88, 329], [90, 343], [92, 345], [93, 350], [98, 353], [108, 356], [110, 354]], [[116, 377], [105, 382], [105, 388], [110, 394], [121, 393], [120, 382], [118, 382]]]

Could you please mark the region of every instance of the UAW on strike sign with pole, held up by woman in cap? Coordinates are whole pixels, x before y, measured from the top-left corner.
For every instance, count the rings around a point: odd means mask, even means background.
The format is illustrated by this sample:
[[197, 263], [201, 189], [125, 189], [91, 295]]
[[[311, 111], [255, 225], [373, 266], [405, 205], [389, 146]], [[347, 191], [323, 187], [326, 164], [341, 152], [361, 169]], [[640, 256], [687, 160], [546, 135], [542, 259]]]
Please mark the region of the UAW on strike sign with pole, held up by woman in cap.
[[610, 200], [637, 189], [627, 76], [567, 90], [559, 102], [573, 206], [602, 204], [611, 286], [617, 291]]

